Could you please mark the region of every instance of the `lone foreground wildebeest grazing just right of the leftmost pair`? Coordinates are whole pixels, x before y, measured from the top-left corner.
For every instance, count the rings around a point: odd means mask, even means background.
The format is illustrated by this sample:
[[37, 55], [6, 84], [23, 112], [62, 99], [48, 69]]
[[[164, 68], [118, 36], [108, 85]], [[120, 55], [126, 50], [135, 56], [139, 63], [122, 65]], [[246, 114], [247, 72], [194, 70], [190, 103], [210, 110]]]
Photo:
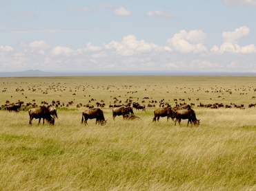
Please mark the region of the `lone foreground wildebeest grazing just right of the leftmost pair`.
[[101, 125], [105, 125], [106, 124], [106, 120], [104, 118], [104, 114], [103, 111], [99, 108], [97, 109], [88, 109], [86, 111], [83, 111], [82, 113], [82, 120], [81, 123], [83, 123], [83, 117], [84, 117], [84, 124], [88, 124], [87, 120], [88, 119], [95, 119], [96, 118], [96, 124], [99, 123]]

